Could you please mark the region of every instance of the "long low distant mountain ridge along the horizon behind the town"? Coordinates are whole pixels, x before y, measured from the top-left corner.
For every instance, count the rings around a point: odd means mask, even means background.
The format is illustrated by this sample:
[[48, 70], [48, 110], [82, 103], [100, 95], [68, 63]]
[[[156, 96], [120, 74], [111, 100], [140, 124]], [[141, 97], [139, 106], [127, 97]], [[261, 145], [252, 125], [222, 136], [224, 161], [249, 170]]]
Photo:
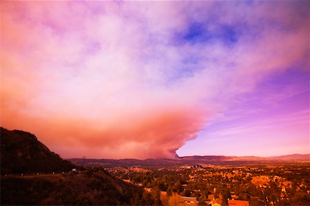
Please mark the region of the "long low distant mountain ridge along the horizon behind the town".
[[[72, 163], [81, 165], [83, 159], [69, 159]], [[104, 167], [114, 166], [171, 166], [171, 165], [196, 165], [196, 164], [259, 164], [259, 163], [279, 163], [281, 161], [289, 162], [310, 162], [310, 154], [291, 154], [286, 156], [260, 157], [260, 156], [183, 156], [178, 158], [148, 158], [138, 159], [87, 159], [88, 166], [103, 165]]]

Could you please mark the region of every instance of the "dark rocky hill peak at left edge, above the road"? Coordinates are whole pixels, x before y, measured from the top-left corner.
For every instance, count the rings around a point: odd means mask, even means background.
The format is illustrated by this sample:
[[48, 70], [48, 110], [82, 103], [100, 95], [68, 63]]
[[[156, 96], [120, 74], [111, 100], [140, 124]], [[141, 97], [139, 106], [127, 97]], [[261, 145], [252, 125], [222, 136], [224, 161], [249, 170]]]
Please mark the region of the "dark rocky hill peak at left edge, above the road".
[[76, 167], [37, 140], [34, 134], [0, 127], [1, 174], [65, 172]]

